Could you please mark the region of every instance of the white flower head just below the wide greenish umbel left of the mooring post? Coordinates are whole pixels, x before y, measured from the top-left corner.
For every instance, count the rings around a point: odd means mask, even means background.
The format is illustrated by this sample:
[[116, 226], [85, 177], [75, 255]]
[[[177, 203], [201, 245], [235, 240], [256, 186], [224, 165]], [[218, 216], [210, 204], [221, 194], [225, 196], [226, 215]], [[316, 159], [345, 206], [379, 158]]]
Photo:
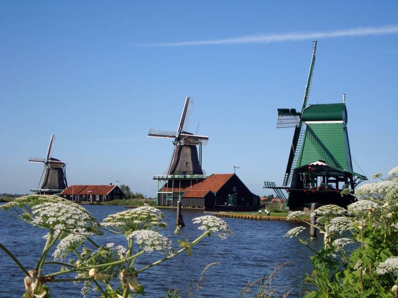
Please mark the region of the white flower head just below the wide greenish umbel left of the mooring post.
[[137, 230], [127, 236], [133, 239], [136, 243], [142, 245], [146, 252], [162, 252], [170, 255], [173, 253], [173, 244], [171, 241], [159, 234], [158, 232], [152, 230]]

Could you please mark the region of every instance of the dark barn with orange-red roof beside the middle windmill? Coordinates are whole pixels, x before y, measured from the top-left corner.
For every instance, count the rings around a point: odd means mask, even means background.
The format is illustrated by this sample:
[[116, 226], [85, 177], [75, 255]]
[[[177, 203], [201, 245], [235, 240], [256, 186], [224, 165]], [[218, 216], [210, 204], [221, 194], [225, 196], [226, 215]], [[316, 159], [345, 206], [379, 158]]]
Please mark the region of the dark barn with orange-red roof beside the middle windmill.
[[259, 206], [253, 194], [236, 174], [212, 174], [184, 189], [183, 206], [217, 208], [217, 206]]

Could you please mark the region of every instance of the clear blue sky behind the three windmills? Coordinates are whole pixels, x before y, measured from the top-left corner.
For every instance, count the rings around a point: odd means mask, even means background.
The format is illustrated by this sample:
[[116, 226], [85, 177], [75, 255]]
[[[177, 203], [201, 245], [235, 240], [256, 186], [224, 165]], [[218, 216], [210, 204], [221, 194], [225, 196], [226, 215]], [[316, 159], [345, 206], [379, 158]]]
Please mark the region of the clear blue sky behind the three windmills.
[[314, 36], [308, 102], [346, 93], [360, 168], [371, 176], [398, 165], [397, 1], [0, 5], [0, 193], [37, 186], [41, 165], [27, 160], [44, 157], [54, 133], [69, 184], [118, 180], [154, 196], [152, 176], [173, 148], [146, 135], [175, 130], [187, 95], [190, 130], [199, 123], [209, 136], [206, 172], [237, 165], [253, 192], [270, 193], [263, 181], [282, 182], [293, 134], [275, 128], [276, 109], [300, 109]]

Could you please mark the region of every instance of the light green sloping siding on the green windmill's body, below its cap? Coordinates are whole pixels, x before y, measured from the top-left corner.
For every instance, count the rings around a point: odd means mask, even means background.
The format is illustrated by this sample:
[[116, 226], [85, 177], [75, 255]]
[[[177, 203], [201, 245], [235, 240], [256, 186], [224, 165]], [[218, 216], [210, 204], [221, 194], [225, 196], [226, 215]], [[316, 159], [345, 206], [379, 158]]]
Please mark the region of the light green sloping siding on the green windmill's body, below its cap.
[[342, 123], [307, 124], [304, 143], [296, 168], [324, 160], [336, 168], [348, 169], [346, 132]]

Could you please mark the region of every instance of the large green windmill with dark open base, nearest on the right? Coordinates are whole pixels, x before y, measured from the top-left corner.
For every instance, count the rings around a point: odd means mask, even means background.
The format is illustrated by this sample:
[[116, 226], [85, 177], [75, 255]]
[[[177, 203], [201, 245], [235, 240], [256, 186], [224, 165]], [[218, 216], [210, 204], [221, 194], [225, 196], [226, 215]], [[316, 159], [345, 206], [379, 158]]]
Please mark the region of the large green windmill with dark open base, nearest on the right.
[[[346, 206], [353, 202], [352, 190], [367, 178], [355, 173], [347, 132], [345, 94], [342, 103], [307, 107], [315, 64], [317, 41], [313, 42], [312, 59], [301, 112], [278, 109], [277, 128], [294, 127], [283, 186], [265, 182], [291, 210], [312, 203]], [[284, 191], [288, 196], [286, 198]]]

